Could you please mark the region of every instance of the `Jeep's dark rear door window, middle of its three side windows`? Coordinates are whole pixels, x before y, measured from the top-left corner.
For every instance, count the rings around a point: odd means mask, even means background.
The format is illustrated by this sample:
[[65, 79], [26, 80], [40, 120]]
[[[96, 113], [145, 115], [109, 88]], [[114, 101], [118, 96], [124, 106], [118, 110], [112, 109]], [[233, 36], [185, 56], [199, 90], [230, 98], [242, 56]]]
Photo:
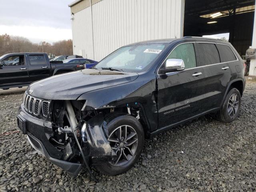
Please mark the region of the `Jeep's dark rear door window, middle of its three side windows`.
[[215, 44], [212, 43], [198, 43], [198, 66], [211, 65], [220, 63], [220, 55]]

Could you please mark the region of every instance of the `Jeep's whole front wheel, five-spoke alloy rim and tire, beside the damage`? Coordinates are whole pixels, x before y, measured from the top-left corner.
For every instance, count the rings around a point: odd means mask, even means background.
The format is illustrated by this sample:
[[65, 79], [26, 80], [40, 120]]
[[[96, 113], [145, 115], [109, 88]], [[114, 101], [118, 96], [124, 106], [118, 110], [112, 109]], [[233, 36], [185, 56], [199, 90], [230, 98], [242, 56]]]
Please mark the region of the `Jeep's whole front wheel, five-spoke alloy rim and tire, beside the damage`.
[[133, 116], [122, 114], [107, 123], [108, 141], [114, 152], [113, 160], [96, 168], [106, 175], [122, 174], [136, 163], [144, 145], [144, 131]]

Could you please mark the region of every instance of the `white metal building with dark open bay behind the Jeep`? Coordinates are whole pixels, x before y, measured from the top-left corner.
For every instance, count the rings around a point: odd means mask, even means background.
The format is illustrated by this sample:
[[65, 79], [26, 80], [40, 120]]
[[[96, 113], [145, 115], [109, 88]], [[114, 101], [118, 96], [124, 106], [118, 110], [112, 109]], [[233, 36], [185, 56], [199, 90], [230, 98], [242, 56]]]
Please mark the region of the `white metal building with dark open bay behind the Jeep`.
[[[255, 0], [76, 0], [70, 5], [74, 54], [101, 60], [134, 42], [229, 33], [245, 55], [256, 48]], [[249, 77], [256, 78], [256, 58]]]

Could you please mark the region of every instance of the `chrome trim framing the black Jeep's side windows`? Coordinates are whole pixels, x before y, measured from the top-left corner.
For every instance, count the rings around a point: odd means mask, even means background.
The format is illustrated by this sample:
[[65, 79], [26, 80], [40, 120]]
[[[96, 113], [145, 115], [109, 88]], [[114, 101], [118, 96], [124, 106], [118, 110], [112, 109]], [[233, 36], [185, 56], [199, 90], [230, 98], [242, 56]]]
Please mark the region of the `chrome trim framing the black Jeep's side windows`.
[[[176, 47], [178, 47], [179, 45], [181, 45], [181, 44], [188, 44], [188, 43], [209, 43], [209, 44], [219, 44], [219, 45], [226, 45], [226, 46], [229, 46], [229, 45], [227, 45], [227, 44], [215, 43], [215, 42], [184, 42], [184, 43], [180, 43], [180, 44], [176, 45], [176, 46], [172, 49], [172, 51], [173, 51]], [[233, 50], [230, 46], [229, 46], [229, 48], [232, 50], [232, 52], [233, 52], [234, 55], [236, 56], [234, 50]], [[217, 50], [218, 50], [218, 48], [217, 48]], [[172, 51], [168, 54], [168, 56], [172, 53]], [[196, 50], [195, 50], [195, 55], [196, 55]], [[158, 68], [158, 70], [157, 70], [157, 75], [158, 75], [158, 76], [161, 75], [161, 74], [159, 74], [158, 72], [159, 72], [161, 66], [164, 64], [164, 62], [166, 62], [168, 56], [165, 58], [165, 60], [162, 62], [162, 64], [161, 64], [160, 67]], [[235, 61], [238, 61], [238, 60], [239, 60], [239, 59], [238, 59], [238, 57], [236, 56], [236, 60], [233, 60], [233, 61], [227, 61], [227, 62], [215, 63], [215, 64], [210, 64], [210, 65], [198, 66], [198, 67], [193, 67], [193, 68], [188, 68], [188, 69], [185, 68], [183, 71], [191, 70], [191, 69], [196, 69], [196, 68], [202, 68], [202, 67], [208, 67], [208, 66], [214, 66], [214, 65], [219, 65], [219, 64], [225, 64], [225, 63], [235, 62]], [[166, 73], [166, 74], [171, 74], [171, 73], [176, 73], [176, 72], [169, 72], [169, 73]]]

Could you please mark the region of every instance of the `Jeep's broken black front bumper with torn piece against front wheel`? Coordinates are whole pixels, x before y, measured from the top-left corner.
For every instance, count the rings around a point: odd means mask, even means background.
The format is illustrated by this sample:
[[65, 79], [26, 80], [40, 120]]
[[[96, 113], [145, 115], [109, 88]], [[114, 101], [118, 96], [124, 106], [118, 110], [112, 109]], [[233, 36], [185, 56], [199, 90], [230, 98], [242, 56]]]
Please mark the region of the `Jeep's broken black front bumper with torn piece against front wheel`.
[[[36, 151], [56, 166], [65, 170], [70, 176], [78, 175], [84, 164], [63, 160], [63, 152], [57, 150], [49, 142], [49, 138], [53, 133], [50, 120], [36, 118], [24, 111], [23, 106], [21, 106], [17, 121], [18, 127], [23, 134], [27, 134], [28, 141]], [[102, 114], [87, 122], [86, 129], [83, 131], [81, 148], [86, 160], [91, 165], [101, 164], [112, 160], [113, 156], [115, 157], [107, 138], [108, 131]]]

